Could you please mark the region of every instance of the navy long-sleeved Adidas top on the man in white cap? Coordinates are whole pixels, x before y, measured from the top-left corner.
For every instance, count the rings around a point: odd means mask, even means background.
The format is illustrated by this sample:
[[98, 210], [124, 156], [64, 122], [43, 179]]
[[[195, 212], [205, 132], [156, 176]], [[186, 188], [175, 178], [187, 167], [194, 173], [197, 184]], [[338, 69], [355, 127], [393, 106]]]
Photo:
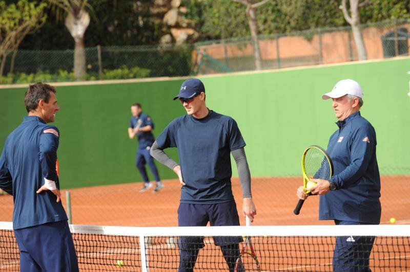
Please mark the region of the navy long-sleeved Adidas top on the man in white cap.
[[337, 122], [329, 153], [337, 190], [320, 196], [320, 220], [380, 222], [380, 175], [376, 159], [376, 132], [360, 112]]

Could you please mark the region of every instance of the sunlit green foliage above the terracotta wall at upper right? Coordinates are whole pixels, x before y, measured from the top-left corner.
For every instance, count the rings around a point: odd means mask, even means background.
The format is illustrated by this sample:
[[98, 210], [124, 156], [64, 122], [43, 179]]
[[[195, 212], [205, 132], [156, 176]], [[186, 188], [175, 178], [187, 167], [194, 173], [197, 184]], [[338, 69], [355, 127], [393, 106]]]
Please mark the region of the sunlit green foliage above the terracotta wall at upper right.
[[[182, 3], [190, 11], [186, 16], [194, 18], [194, 25], [203, 38], [250, 35], [245, 7], [239, 3], [226, 0], [185, 0]], [[272, 0], [257, 10], [259, 33], [274, 34], [348, 26], [339, 9], [340, 4], [341, 0]], [[372, 0], [360, 9], [360, 18], [363, 24], [410, 18], [410, 0]]]

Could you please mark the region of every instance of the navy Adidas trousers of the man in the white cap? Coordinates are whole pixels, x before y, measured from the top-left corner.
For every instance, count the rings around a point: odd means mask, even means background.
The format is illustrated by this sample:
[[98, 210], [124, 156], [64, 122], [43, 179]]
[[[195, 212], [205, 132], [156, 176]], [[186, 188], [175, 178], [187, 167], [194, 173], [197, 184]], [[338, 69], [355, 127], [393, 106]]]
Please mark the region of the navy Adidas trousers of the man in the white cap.
[[[368, 223], [335, 220], [337, 225], [367, 225]], [[374, 236], [338, 236], [333, 253], [333, 271], [371, 271], [369, 257]]]

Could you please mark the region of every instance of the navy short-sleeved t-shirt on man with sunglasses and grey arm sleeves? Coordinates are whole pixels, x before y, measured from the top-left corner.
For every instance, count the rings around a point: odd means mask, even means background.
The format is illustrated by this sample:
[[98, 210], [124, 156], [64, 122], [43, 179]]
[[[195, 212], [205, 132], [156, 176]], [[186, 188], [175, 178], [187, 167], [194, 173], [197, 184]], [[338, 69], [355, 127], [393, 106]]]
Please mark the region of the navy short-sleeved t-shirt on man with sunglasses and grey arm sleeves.
[[210, 110], [203, 119], [191, 115], [173, 120], [156, 140], [159, 148], [178, 148], [182, 179], [181, 203], [213, 204], [234, 200], [231, 151], [244, 147], [231, 117]]

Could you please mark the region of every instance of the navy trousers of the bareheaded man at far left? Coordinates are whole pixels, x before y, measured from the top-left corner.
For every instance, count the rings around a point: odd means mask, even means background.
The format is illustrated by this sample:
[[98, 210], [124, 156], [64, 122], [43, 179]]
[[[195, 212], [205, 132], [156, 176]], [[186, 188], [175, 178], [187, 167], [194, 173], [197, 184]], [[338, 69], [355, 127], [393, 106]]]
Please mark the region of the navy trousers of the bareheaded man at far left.
[[67, 220], [14, 230], [20, 250], [20, 271], [78, 271]]

